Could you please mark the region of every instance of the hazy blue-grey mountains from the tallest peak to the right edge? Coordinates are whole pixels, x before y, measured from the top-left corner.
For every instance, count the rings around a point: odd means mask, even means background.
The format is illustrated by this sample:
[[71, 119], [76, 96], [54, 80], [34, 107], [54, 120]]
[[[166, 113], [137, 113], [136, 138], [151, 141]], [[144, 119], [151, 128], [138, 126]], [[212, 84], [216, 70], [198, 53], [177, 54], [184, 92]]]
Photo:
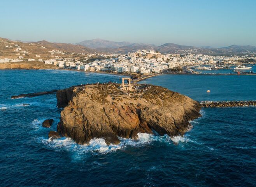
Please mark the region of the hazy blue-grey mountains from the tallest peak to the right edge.
[[161, 53], [196, 53], [196, 54], [206, 54], [206, 55], [242, 55], [242, 53], [251, 51], [256, 52], [255, 46], [239, 46], [231, 45], [227, 47], [214, 48], [211, 46], [186, 46], [178, 45], [174, 43], [165, 43], [160, 46], [154, 44], [146, 43], [130, 43], [127, 41], [115, 42], [105, 39], [91, 39], [84, 40], [82, 42], [76, 43], [88, 48], [93, 48], [96, 51], [103, 53], [121, 53], [126, 54], [128, 52], [133, 52], [137, 50], [157, 50]]

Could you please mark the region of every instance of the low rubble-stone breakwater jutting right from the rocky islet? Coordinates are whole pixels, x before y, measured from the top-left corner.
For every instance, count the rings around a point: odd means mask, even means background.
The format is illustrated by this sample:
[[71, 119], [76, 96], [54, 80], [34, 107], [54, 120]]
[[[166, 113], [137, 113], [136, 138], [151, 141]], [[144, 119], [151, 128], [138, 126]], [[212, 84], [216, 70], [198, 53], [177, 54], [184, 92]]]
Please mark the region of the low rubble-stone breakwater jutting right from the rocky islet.
[[256, 106], [256, 101], [201, 101], [202, 107]]

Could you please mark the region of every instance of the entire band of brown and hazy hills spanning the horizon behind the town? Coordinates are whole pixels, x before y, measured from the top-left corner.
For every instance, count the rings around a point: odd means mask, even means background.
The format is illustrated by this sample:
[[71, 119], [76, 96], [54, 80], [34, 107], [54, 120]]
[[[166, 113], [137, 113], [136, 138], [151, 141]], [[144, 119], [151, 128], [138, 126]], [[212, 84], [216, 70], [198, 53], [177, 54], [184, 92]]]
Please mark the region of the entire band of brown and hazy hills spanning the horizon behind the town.
[[[10, 39], [0, 38], [2, 41], [7, 41], [8, 43], [14, 42]], [[7, 43], [2, 43], [0, 45], [0, 56], [6, 54], [13, 54], [14, 51], [10, 48], [6, 48]], [[128, 52], [134, 52], [137, 50], [156, 50], [161, 53], [193, 53], [193, 54], [205, 54], [205, 55], [245, 55], [245, 54], [256, 54], [256, 46], [240, 46], [240, 45], [231, 45], [221, 48], [213, 48], [210, 46], [187, 46], [187, 45], [178, 45], [174, 43], [165, 43], [160, 46], [146, 43], [130, 43], [130, 42], [115, 42], [104, 39], [92, 39], [82, 41], [80, 43], [71, 44], [71, 43], [51, 43], [46, 40], [25, 43], [21, 41], [16, 41], [18, 45], [22, 46], [24, 49], [29, 49], [32, 53], [41, 53], [47, 55], [50, 50], [61, 50], [66, 51], [67, 53], [119, 53], [127, 54]], [[16, 43], [15, 42], [15, 43]], [[44, 46], [45, 48], [40, 48]], [[50, 55], [50, 54], [48, 54]]]

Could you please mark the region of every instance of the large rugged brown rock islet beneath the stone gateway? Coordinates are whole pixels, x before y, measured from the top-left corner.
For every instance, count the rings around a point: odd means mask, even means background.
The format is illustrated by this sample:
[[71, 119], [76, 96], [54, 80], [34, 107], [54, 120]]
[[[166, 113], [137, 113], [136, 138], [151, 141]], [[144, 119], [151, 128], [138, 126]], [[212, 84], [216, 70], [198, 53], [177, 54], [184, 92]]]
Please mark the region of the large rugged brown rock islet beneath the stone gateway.
[[119, 84], [70, 87], [56, 93], [58, 106], [65, 107], [58, 133], [79, 144], [104, 138], [118, 144], [118, 137], [137, 139], [137, 133], [183, 135], [189, 120], [200, 116], [200, 104], [187, 96], [153, 85], [138, 85], [124, 92]]

